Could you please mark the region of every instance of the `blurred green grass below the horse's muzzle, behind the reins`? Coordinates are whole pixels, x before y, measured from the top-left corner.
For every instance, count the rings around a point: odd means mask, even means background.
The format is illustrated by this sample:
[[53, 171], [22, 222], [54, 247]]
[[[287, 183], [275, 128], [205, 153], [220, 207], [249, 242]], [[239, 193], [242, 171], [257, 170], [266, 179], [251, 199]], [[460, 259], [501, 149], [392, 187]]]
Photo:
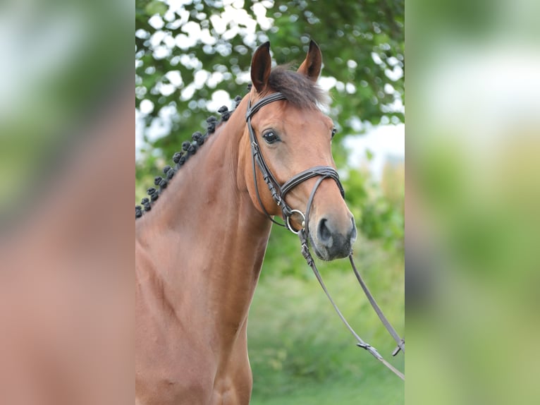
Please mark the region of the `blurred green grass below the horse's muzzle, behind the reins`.
[[[381, 248], [362, 249], [357, 265], [398, 332], [404, 329], [403, 258]], [[334, 300], [360, 337], [398, 369], [395, 348], [369, 306], [347, 260], [320, 263]], [[342, 269], [343, 270], [343, 269]], [[404, 384], [369, 353], [341, 323], [314, 277], [272, 274], [265, 261], [248, 327], [254, 375], [252, 404], [403, 404]]]

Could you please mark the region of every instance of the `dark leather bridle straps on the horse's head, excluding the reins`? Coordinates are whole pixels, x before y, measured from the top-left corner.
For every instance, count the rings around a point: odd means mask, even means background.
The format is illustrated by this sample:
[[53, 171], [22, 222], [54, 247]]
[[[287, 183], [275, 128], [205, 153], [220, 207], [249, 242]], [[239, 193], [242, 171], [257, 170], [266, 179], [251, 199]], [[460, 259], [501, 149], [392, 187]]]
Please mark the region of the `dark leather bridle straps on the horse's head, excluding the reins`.
[[[251, 100], [250, 100], [250, 104], [247, 107], [245, 118], [247, 121], [247, 129], [250, 132], [251, 152], [252, 152], [252, 159], [253, 159], [253, 181], [255, 184], [255, 192], [257, 193], [257, 200], [259, 200], [259, 205], [262, 207], [262, 210], [271, 219], [272, 222], [281, 226], [286, 226], [286, 228], [289, 229], [291, 232], [293, 232], [293, 234], [298, 234], [298, 232], [301, 229], [306, 228], [307, 220], [309, 220], [309, 218], [306, 217], [304, 212], [300, 210], [294, 210], [286, 203], [285, 196], [289, 191], [291, 191], [293, 188], [298, 186], [298, 184], [302, 183], [303, 181], [306, 181], [307, 179], [311, 179], [312, 177], [316, 177], [316, 176], [322, 176], [322, 179], [320, 179], [320, 181], [326, 178], [333, 179], [334, 181], [336, 181], [342, 197], [345, 197], [345, 191], [343, 190], [343, 186], [341, 186], [341, 182], [339, 181], [338, 172], [333, 167], [329, 167], [329, 166], [312, 167], [311, 169], [301, 171], [300, 173], [296, 174], [295, 176], [293, 176], [291, 179], [289, 179], [282, 185], [280, 185], [280, 183], [276, 180], [276, 177], [270, 171], [268, 165], [264, 161], [264, 157], [262, 156], [262, 153], [261, 153], [261, 148], [259, 147], [257, 138], [255, 137], [255, 131], [253, 130], [253, 126], [251, 125], [251, 119], [252, 119], [252, 116], [257, 111], [259, 111], [259, 109], [264, 107], [266, 104], [270, 104], [271, 102], [284, 100], [284, 99], [286, 99], [286, 97], [282, 95], [280, 92], [277, 92], [269, 96], [263, 97], [258, 102], [256, 102], [253, 106], [251, 105]], [[279, 222], [276, 222], [274, 218], [272, 218], [271, 215], [268, 213], [268, 211], [266, 211], [266, 208], [264, 207], [262, 203], [261, 197], [259, 195], [259, 187], [257, 186], [257, 174], [255, 172], [255, 162], [257, 162], [257, 166], [259, 166], [259, 170], [262, 173], [262, 177], [264, 179], [264, 182], [266, 183], [266, 186], [268, 186], [270, 190], [272, 198], [274, 199], [276, 204], [281, 208], [281, 212], [283, 213], [283, 219], [285, 220], [285, 224], [280, 224]], [[312, 193], [307, 203], [306, 214], [309, 211], [309, 207], [311, 206], [313, 202], [313, 196], [314, 196], [314, 193]], [[293, 214], [299, 214], [300, 217], [302, 217], [301, 229], [296, 230], [293, 228], [293, 226], [290, 225], [290, 217]]]

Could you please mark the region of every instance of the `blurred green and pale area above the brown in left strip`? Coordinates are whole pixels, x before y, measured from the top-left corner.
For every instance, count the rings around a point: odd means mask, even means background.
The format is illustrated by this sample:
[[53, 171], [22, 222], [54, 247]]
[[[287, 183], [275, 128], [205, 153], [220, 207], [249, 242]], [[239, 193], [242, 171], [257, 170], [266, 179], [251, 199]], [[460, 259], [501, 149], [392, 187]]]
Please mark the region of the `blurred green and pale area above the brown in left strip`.
[[0, 2], [0, 226], [127, 88], [134, 15], [103, 0]]

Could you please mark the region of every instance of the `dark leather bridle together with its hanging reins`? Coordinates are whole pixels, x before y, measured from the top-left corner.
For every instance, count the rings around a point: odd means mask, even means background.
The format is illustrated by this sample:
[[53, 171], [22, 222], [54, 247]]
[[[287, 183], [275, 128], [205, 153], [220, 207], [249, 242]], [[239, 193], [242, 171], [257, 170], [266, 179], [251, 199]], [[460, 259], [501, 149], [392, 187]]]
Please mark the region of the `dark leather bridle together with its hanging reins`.
[[[274, 222], [274, 224], [278, 224], [279, 226], [285, 226], [287, 229], [289, 229], [293, 234], [297, 234], [300, 238], [300, 245], [302, 249], [302, 255], [304, 256], [307, 265], [312, 268], [315, 277], [317, 277], [317, 280], [319, 281], [319, 284], [321, 284], [321, 287], [326, 294], [326, 296], [329, 298], [329, 301], [331, 302], [334, 310], [336, 310], [336, 313], [338, 314], [339, 318], [343, 321], [345, 326], [348, 328], [348, 330], [351, 332], [351, 334], [355, 337], [357, 340], [357, 346], [361, 347], [362, 349], [365, 349], [369, 351], [369, 353], [372, 353], [372, 356], [374, 356], [377, 360], [381, 361], [384, 365], [386, 365], [387, 368], [393, 371], [395, 375], [398, 375], [402, 380], [405, 380], [405, 375], [401, 373], [399, 370], [393, 367], [388, 361], [386, 361], [379, 352], [370, 344], [367, 344], [358, 334], [355, 332], [355, 330], [352, 329], [352, 327], [349, 325], [347, 320], [345, 320], [345, 317], [340, 312], [338, 306], [336, 303], [334, 303], [332, 297], [330, 296], [330, 293], [328, 289], [326, 289], [326, 286], [322, 280], [321, 274], [319, 273], [319, 270], [317, 269], [317, 266], [315, 265], [315, 262], [312, 258], [311, 253], [309, 252], [309, 246], [308, 246], [308, 238], [309, 238], [309, 212], [311, 211], [313, 199], [315, 196], [315, 192], [317, 191], [317, 188], [319, 188], [320, 184], [324, 179], [333, 179], [336, 181], [336, 184], [338, 185], [339, 191], [341, 193], [341, 196], [345, 198], [345, 191], [343, 190], [343, 186], [341, 185], [341, 182], [339, 180], [339, 175], [336, 169], [333, 169], [333, 167], [329, 166], [315, 166], [311, 169], [307, 169], [305, 171], [301, 171], [300, 173], [293, 176], [291, 179], [283, 183], [283, 185], [280, 185], [274, 175], [271, 173], [269, 167], [266, 165], [266, 162], [264, 161], [264, 157], [262, 156], [262, 152], [259, 147], [259, 143], [257, 142], [257, 138], [255, 137], [255, 133], [251, 124], [251, 118], [252, 116], [259, 111], [262, 107], [264, 107], [267, 104], [270, 104], [271, 102], [278, 101], [278, 100], [285, 100], [286, 97], [283, 96], [280, 92], [273, 93], [271, 95], [268, 95], [266, 97], [263, 97], [258, 102], [256, 102], [253, 106], [250, 103], [247, 107], [247, 111], [245, 114], [245, 118], [247, 121], [247, 129], [250, 133], [250, 142], [251, 142], [251, 150], [252, 150], [252, 164], [253, 164], [253, 180], [254, 180], [254, 186], [255, 186], [255, 192], [257, 193], [257, 200], [259, 201], [259, 205], [262, 207], [262, 210], [266, 214], [269, 219]], [[278, 205], [278, 207], [281, 208], [281, 212], [283, 213], [283, 219], [285, 220], [285, 224], [281, 224], [279, 222], [276, 222], [276, 220], [266, 211], [266, 208], [264, 207], [261, 197], [259, 195], [259, 188], [257, 186], [257, 175], [256, 175], [256, 169], [255, 164], [259, 167], [259, 170], [261, 171], [261, 174], [263, 176], [264, 182], [266, 183], [266, 186], [268, 186], [270, 193], [272, 195], [272, 198]], [[315, 183], [311, 194], [309, 195], [309, 200], [307, 200], [307, 207], [306, 211], [301, 212], [300, 210], [294, 210], [292, 209], [285, 201], [285, 195], [295, 188], [298, 184], [302, 183], [303, 181], [306, 181], [307, 179], [311, 179], [312, 177], [319, 176], [319, 179]], [[290, 217], [293, 214], [298, 214], [300, 217], [302, 217], [302, 227], [298, 230], [294, 229], [293, 226], [290, 225]], [[401, 339], [397, 332], [395, 332], [394, 328], [388, 322], [386, 317], [384, 316], [381, 308], [379, 308], [379, 305], [377, 305], [375, 299], [373, 298], [371, 292], [369, 292], [369, 289], [367, 288], [367, 285], [365, 284], [364, 280], [360, 276], [360, 273], [357, 271], [355, 262], [352, 258], [352, 252], [348, 256], [350, 260], [350, 264], [352, 266], [352, 270], [355, 273], [355, 276], [360, 283], [360, 286], [362, 286], [362, 290], [364, 291], [364, 294], [367, 296], [369, 303], [372, 304], [372, 307], [374, 308], [376, 314], [379, 316], [379, 319], [383, 323], [384, 327], [386, 327], [386, 330], [391, 334], [393, 339], [396, 341], [398, 346], [393, 351], [392, 356], [395, 356], [399, 351], [403, 351], [405, 353], [405, 340]]]

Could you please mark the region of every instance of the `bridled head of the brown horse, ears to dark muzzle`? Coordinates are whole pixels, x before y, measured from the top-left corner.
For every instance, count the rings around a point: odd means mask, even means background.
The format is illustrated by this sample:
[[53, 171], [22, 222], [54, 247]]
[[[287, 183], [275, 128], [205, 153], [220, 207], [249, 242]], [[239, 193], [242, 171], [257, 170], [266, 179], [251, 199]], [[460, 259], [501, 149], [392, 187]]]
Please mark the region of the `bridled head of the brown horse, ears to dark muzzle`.
[[257, 209], [281, 215], [295, 233], [309, 229], [316, 255], [333, 260], [350, 254], [357, 231], [331, 153], [333, 121], [320, 108], [326, 99], [316, 84], [321, 64], [313, 41], [296, 72], [271, 68], [269, 42], [257, 49], [240, 153], [253, 162], [244, 176]]

